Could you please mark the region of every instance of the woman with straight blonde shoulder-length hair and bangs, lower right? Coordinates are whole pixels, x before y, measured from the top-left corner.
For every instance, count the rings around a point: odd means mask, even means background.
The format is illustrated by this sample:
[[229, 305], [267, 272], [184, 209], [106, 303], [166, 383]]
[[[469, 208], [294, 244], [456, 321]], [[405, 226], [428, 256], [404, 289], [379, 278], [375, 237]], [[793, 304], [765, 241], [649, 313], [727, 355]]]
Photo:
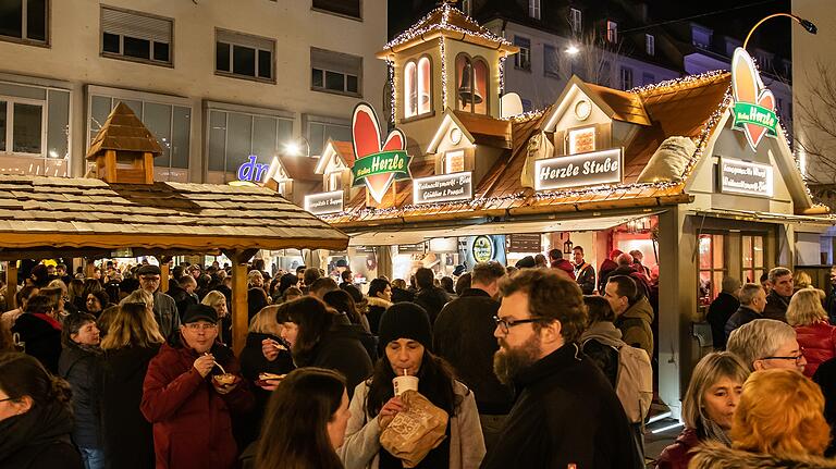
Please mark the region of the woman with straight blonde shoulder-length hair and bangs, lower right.
[[683, 400], [685, 430], [662, 452], [656, 468], [686, 469], [694, 447], [709, 442], [732, 444], [726, 433], [748, 375], [746, 365], [729, 351], [709, 354], [697, 363]]

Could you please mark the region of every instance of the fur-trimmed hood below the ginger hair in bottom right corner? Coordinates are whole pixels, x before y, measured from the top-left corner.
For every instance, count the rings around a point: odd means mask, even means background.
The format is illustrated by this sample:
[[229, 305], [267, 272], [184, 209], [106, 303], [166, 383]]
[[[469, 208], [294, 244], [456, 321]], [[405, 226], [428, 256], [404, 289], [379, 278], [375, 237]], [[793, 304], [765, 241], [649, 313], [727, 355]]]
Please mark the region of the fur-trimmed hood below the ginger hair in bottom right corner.
[[836, 469], [836, 459], [773, 456], [710, 444], [694, 454], [688, 469]]

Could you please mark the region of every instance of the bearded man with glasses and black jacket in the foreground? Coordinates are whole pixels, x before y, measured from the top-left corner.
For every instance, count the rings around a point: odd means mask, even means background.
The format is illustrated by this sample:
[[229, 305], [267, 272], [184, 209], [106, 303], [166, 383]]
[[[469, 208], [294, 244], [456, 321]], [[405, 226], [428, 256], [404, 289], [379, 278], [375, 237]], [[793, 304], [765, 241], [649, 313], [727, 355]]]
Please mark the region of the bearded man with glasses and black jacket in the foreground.
[[577, 344], [587, 323], [577, 283], [525, 270], [500, 292], [493, 369], [517, 399], [481, 468], [642, 468], [615, 391]]

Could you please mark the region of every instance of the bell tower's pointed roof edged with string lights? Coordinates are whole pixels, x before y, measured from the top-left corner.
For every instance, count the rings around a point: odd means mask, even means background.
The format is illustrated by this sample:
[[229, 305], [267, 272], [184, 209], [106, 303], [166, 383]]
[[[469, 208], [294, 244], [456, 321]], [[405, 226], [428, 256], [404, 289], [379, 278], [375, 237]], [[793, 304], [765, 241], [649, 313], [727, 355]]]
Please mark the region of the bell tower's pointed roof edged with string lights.
[[501, 49], [506, 53], [519, 51], [518, 47], [493, 34], [453, 7], [450, 1], [444, 0], [439, 8], [429, 12], [411, 27], [389, 41], [383, 50], [378, 52], [378, 58], [385, 59], [391, 52], [408, 49], [438, 37], [452, 37], [464, 42]]

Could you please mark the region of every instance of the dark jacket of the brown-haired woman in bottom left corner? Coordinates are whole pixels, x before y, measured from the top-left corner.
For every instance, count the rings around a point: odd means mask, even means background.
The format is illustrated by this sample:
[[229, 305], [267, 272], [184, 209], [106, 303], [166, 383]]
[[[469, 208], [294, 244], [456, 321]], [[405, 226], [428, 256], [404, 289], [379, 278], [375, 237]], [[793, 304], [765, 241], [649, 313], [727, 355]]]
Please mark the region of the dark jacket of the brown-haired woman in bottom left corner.
[[72, 411], [65, 404], [35, 405], [29, 411], [0, 420], [0, 468], [83, 469], [70, 441]]

